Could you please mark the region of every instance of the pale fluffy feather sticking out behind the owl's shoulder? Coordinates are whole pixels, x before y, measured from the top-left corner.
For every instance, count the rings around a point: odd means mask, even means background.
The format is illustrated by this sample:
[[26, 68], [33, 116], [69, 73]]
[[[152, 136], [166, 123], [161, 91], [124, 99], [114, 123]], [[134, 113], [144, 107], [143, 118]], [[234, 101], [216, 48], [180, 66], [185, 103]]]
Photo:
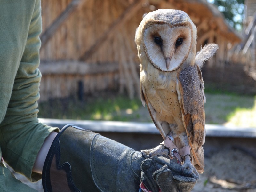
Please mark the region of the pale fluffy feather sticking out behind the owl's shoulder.
[[196, 64], [202, 68], [205, 61], [215, 55], [219, 46], [215, 43], [205, 44], [203, 49], [196, 53]]

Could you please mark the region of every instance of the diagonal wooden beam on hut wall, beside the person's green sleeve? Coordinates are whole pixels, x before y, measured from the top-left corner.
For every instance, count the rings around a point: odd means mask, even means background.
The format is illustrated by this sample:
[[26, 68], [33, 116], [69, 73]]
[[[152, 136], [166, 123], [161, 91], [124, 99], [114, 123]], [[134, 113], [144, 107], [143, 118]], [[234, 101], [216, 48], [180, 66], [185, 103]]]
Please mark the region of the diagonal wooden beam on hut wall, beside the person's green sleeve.
[[76, 10], [76, 7], [81, 2], [81, 0], [72, 0], [67, 8], [57, 17], [56, 20], [52, 22], [52, 24], [45, 29], [44, 33], [41, 34], [41, 48], [45, 46], [45, 44], [52, 38], [58, 28], [63, 24], [63, 22], [70, 16], [72, 12]]

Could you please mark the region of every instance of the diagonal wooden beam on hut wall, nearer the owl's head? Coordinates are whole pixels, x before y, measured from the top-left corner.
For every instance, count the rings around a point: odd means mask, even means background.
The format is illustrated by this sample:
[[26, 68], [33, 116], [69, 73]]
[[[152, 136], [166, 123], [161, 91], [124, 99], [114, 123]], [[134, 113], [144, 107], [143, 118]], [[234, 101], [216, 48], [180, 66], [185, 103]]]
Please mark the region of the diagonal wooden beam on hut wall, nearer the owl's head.
[[141, 8], [142, 0], [135, 0], [122, 14], [119, 16], [110, 27], [92, 44], [92, 46], [82, 54], [80, 60], [87, 60], [87, 58], [102, 45], [109, 36], [111, 36], [116, 29], [125, 21], [130, 19], [134, 13], [136, 13]]

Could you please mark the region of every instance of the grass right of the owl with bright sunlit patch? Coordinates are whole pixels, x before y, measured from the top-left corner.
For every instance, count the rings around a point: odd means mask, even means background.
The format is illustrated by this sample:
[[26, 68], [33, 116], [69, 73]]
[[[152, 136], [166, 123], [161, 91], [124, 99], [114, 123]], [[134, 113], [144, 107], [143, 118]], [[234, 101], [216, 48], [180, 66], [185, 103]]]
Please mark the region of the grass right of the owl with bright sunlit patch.
[[248, 126], [250, 124], [250, 126], [256, 127], [256, 97], [235, 94], [206, 93], [205, 95], [206, 123], [234, 126]]

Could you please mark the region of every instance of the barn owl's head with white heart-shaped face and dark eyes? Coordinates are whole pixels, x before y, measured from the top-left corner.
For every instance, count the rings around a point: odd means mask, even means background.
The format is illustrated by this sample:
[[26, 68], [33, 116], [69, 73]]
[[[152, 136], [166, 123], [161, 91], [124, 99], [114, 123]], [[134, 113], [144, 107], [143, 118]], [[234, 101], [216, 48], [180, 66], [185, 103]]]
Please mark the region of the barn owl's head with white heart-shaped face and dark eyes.
[[196, 26], [180, 10], [159, 9], [148, 13], [136, 30], [139, 57], [145, 55], [155, 68], [173, 71], [196, 54]]

